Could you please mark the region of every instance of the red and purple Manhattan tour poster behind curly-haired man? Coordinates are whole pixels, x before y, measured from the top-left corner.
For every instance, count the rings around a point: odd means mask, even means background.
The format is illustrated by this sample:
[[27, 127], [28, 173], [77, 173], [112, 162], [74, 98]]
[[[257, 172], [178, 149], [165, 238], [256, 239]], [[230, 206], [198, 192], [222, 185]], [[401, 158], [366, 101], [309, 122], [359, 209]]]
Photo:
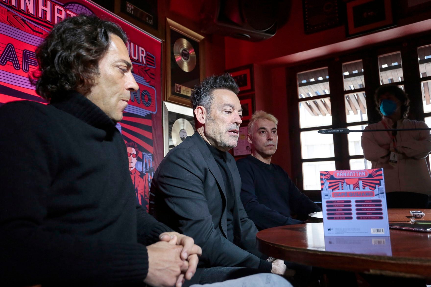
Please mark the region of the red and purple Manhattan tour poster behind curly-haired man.
[[[32, 100], [47, 103], [39, 97], [28, 80], [38, 69], [36, 47], [54, 24], [78, 14], [96, 15], [119, 24], [129, 37], [127, 48], [133, 63], [137, 92], [117, 124], [126, 143], [137, 144], [137, 157], [129, 164], [136, 190], [148, 193], [154, 170], [163, 158], [161, 104], [161, 41], [111, 12], [85, 0], [0, 0], [0, 106], [9, 101]], [[131, 166], [133, 165], [133, 166]], [[137, 202], [146, 206], [147, 194], [137, 191]]]

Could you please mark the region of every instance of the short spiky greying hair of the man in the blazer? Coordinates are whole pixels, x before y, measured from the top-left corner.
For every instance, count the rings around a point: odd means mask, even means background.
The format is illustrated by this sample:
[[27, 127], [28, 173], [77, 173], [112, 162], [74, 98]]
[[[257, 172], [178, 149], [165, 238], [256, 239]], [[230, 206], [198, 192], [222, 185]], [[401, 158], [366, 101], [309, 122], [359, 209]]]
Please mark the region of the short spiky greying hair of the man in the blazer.
[[219, 76], [212, 75], [204, 79], [200, 84], [194, 86], [194, 91], [190, 97], [193, 110], [196, 109], [197, 106], [203, 106], [209, 114], [213, 98], [212, 92], [218, 89], [231, 90], [235, 95], [240, 91], [237, 82], [230, 74], [225, 73]]

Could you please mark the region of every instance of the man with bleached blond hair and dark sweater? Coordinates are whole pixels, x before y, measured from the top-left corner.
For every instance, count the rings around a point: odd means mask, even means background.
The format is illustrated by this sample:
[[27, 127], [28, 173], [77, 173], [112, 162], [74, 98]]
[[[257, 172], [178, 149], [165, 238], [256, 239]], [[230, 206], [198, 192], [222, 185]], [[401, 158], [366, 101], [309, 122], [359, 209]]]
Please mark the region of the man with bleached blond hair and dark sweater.
[[321, 211], [295, 186], [281, 166], [271, 163], [277, 150], [278, 120], [264, 111], [254, 112], [247, 132], [251, 155], [237, 161], [242, 187], [241, 201], [259, 230], [300, 224], [290, 212], [306, 216]]

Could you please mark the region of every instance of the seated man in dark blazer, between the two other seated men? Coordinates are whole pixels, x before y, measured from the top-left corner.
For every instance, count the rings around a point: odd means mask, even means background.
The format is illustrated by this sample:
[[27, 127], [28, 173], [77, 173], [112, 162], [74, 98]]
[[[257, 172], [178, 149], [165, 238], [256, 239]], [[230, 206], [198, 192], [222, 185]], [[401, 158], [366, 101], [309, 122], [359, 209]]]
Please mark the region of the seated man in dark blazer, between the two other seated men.
[[237, 94], [228, 74], [195, 87], [191, 103], [197, 131], [168, 153], [151, 184], [150, 212], [194, 238], [203, 250], [200, 266], [215, 267], [204, 271], [201, 283], [232, 278], [234, 269], [218, 268], [222, 266], [281, 275], [286, 270], [282, 260], [272, 262], [257, 250], [257, 229], [240, 201], [240, 176], [227, 153], [237, 145], [242, 122]]

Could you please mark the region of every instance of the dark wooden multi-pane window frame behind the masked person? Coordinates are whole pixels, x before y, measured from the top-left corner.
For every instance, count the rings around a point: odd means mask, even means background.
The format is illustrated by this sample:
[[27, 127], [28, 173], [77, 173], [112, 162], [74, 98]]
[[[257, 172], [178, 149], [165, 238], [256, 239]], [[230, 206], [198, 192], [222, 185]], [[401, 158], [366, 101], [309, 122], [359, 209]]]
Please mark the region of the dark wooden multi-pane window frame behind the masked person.
[[[423, 35], [431, 35], [431, 33], [421, 33], [413, 36], [395, 39], [394, 41], [384, 44], [375, 44], [368, 47], [361, 47], [356, 50], [350, 50], [342, 54], [329, 55], [325, 59], [308, 60], [306, 62], [295, 63], [295, 66], [286, 67], [286, 82], [287, 82], [287, 97], [289, 115], [288, 121], [290, 125], [290, 157], [291, 157], [291, 178], [297, 187], [303, 191], [314, 201], [321, 201], [320, 190], [304, 190], [303, 184], [303, 162], [315, 162], [334, 160], [337, 170], [350, 169], [350, 159], [362, 159], [363, 155], [350, 156], [347, 136], [332, 135], [334, 137], [334, 157], [318, 158], [318, 159], [302, 159], [300, 133], [302, 131], [317, 131], [327, 128], [349, 128], [355, 125], [368, 125], [381, 120], [381, 115], [376, 109], [374, 102], [374, 92], [381, 86], [380, 74], [378, 67], [378, 56], [400, 51], [401, 63], [403, 69], [403, 81], [392, 83], [404, 85], [404, 90], [410, 97], [410, 113], [409, 119], [424, 121], [426, 116], [431, 116], [431, 112], [424, 113], [422, 106], [422, 90], [421, 82], [431, 80], [431, 76], [420, 78], [418, 47], [431, 44], [429, 37]], [[428, 40], [425, 40], [428, 39]], [[343, 82], [343, 63], [362, 60], [364, 69], [364, 84], [365, 87], [356, 90], [344, 90]], [[323, 67], [328, 67], [330, 94], [323, 97], [331, 98], [332, 110], [332, 125], [300, 128], [299, 119], [299, 102], [311, 100], [310, 98], [299, 98], [297, 89], [297, 73], [315, 70]], [[355, 91], [365, 91], [367, 105], [367, 121], [349, 122], [347, 123], [345, 113], [345, 94], [352, 94]], [[316, 96], [316, 99], [321, 96]], [[330, 136], [330, 135], [328, 135]], [[428, 158], [427, 158], [428, 160]], [[429, 164], [429, 162], [428, 162]]]

